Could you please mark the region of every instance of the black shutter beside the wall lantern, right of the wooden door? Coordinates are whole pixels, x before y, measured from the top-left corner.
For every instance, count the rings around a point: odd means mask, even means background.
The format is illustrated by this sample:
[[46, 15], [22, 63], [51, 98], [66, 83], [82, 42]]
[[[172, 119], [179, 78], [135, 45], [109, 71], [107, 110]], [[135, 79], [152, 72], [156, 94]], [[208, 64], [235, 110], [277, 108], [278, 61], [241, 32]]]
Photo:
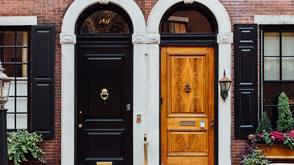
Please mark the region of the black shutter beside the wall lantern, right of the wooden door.
[[258, 124], [257, 24], [234, 24], [235, 137], [247, 137]]

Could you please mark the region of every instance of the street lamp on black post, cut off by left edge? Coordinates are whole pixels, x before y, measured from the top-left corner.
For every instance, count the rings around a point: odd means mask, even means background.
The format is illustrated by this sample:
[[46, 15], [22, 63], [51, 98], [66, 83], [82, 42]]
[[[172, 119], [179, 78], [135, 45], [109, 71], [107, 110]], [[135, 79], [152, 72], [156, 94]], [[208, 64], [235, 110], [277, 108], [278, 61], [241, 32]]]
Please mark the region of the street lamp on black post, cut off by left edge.
[[8, 165], [6, 119], [8, 109], [5, 109], [4, 105], [8, 101], [12, 81], [12, 78], [3, 73], [4, 70], [0, 62], [0, 165]]

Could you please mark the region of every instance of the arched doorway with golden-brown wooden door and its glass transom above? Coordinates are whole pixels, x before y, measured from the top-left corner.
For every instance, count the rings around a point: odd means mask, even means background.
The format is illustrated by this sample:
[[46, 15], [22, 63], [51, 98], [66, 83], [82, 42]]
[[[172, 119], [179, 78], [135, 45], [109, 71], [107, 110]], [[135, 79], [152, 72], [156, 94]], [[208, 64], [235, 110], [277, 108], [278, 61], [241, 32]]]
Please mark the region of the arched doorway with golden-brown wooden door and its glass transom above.
[[196, 2], [177, 3], [162, 18], [160, 164], [215, 164], [217, 31]]

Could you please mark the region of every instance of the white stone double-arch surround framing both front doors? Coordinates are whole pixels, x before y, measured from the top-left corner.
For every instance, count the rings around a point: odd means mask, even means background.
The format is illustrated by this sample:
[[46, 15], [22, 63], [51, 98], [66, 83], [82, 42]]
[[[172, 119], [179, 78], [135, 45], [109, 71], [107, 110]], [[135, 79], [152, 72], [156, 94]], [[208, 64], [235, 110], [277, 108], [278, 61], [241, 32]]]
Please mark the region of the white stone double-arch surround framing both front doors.
[[[159, 0], [153, 7], [147, 26], [134, 0], [75, 0], [67, 10], [60, 34], [62, 53], [61, 104], [61, 164], [74, 165], [74, 49], [75, 25], [78, 16], [87, 7], [101, 3], [121, 6], [133, 23], [133, 165], [144, 165], [143, 133], [147, 132], [148, 165], [159, 160], [159, 24], [164, 13], [183, 0]], [[191, 0], [185, 0], [191, 1]], [[229, 17], [218, 0], [194, 0], [207, 6], [216, 16], [219, 26], [219, 79], [223, 69], [230, 78], [232, 33]], [[146, 28], [147, 27], [147, 28]], [[229, 37], [229, 39], [227, 39]], [[218, 37], [219, 39], [219, 37]], [[230, 165], [230, 96], [224, 103], [219, 97], [219, 165]], [[141, 114], [141, 123], [136, 122]]]

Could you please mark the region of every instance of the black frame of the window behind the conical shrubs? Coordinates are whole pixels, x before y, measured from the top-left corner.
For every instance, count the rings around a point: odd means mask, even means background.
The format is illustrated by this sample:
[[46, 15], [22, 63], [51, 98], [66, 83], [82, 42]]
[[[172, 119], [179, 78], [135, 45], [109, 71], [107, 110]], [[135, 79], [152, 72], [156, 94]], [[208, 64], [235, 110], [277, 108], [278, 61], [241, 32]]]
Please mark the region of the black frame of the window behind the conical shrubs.
[[[260, 29], [260, 99], [259, 99], [259, 104], [260, 104], [260, 112], [259, 112], [259, 117], [262, 116], [262, 113], [264, 112], [265, 107], [276, 107], [275, 109], [277, 110], [277, 106], [275, 104], [264, 104], [264, 83], [278, 83], [278, 96], [280, 96], [282, 92], [282, 83], [294, 83], [293, 80], [283, 80], [282, 79], [282, 57], [294, 57], [293, 56], [282, 56], [282, 33], [294, 33], [294, 25], [259, 25]], [[279, 33], [279, 80], [264, 80], [264, 33]], [[269, 56], [266, 56], [269, 57]], [[276, 57], [276, 56], [271, 56], [271, 57]], [[294, 108], [294, 105], [290, 105], [290, 107]], [[276, 112], [278, 114], [278, 112]], [[272, 122], [271, 124], [273, 124]], [[276, 126], [271, 125], [272, 128], [275, 128]], [[277, 130], [277, 129], [273, 129]]]

